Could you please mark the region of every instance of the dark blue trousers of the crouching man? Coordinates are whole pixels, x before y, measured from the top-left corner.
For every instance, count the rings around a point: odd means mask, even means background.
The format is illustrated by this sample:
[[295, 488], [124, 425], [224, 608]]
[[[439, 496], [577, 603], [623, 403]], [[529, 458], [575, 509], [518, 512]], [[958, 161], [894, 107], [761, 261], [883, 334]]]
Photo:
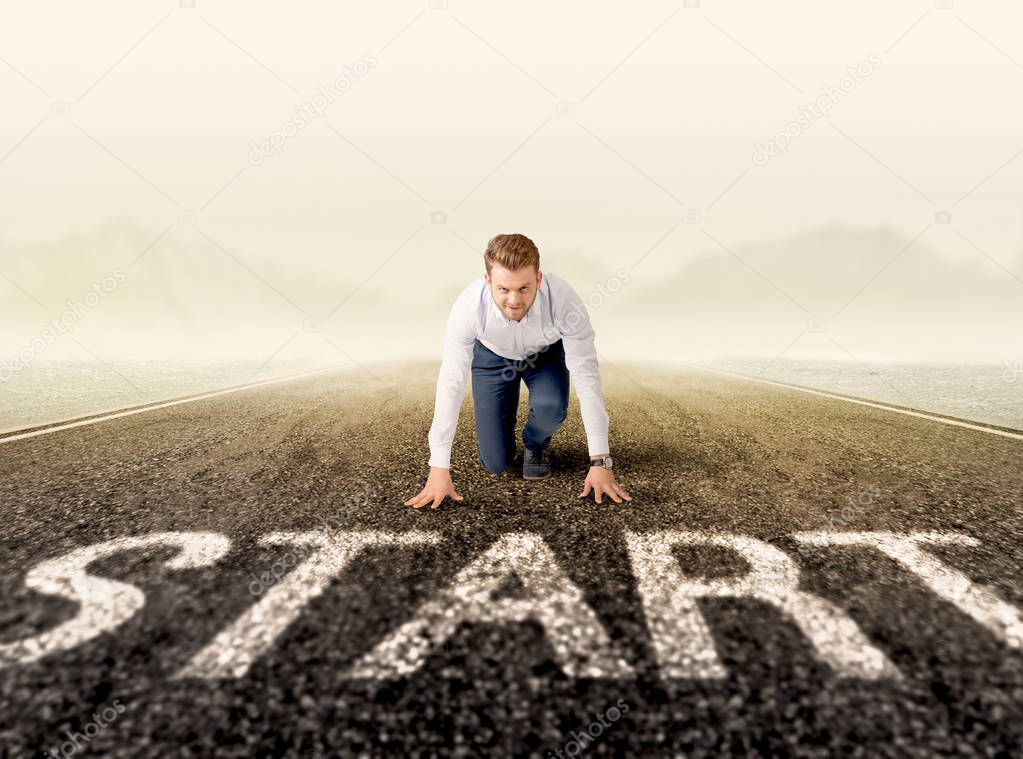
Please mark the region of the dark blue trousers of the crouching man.
[[476, 341], [473, 403], [479, 459], [487, 472], [503, 472], [515, 460], [515, 423], [523, 381], [529, 389], [529, 419], [522, 430], [523, 445], [532, 450], [546, 448], [569, 409], [569, 369], [562, 341], [521, 361], [498, 356]]

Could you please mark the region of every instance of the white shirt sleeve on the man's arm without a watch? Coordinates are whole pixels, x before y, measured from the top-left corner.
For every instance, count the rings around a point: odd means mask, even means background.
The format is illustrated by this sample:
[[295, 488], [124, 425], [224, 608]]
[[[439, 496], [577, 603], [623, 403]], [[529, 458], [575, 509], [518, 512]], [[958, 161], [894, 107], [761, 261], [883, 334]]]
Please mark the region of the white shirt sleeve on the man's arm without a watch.
[[478, 282], [462, 291], [448, 314], [441, 370], [437, 377], [437, 396], [434, 399], [434, 421], [429, 435], [431, 466], [451, 466], [451, 444], [465, 397], [465, 382], [477, 337], [473, 301], [479, 291]]

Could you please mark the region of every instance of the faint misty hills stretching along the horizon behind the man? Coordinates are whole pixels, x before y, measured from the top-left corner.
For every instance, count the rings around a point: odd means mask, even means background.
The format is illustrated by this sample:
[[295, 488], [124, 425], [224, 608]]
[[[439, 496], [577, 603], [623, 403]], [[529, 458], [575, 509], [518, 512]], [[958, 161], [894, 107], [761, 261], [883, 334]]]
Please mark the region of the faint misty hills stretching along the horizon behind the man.
[[[1000, 363], [1023, 355], [1021, 257], [1011, 261], [998, 252], [1016, 279], [946, 229], [961, 243], [954, 260], [935, 250], [928, 235], [899, 255], [910, 240], [890, 228], [829, 226], [741, 243], [713, 230], [735, 256], [704, 234], [688, 235], [659, 247], [651, 260], [656, 266], [634, 269], [637, 252], [612, 260], [541, 247], [541, 268], [566, 278], [584, 299], [595, 282], [619, 269], [628, 272], [630, 282], [617, 295], [591, 305], [598, 348], [608, 355], [774, 356], [789, 350], [789, 357], [822, 351], [847, 359], [836, 354], [836, 344], [857, 357], [954, 360], [969, 354]], [[122, 348], [167, 357], [227, 350], [270, 355], [304, 329], [306, 318], [322, 318], [348, 299], [311, 339], [317, 346], [335, 356], [340, 348], [359, 358], [439, 359], [451, 303], [483, 271], [463, 242], [436, 254], [430, 247], [436, 243], [417, 240], [391, 260], [373, 252], [380, 263], [369, 253], [338, 251], [336, 264], [318, 261], [313, 268], [301, 256], [254, 260], [231, 240], [211, 235], [225, 253], [190, 226], [175, 226], [130, 266], [161, 231], [112, 220], [32, 247], [0, 242], [0, 271], [46, 306], [0, 279], [0, 353], [11, 355], [44, 320], [59, 315], [68, 299], [82, 299], [92, 282], [120, 268], [126, 280], [76, 326], [83, 342], [88, 336], [90, 346], [105, 346], [104, 355]], [[678, 264], [666, 269], [673, 255]], [[824, 329], [815, 331], [811, 319], [822, 319], [813, 323]]]

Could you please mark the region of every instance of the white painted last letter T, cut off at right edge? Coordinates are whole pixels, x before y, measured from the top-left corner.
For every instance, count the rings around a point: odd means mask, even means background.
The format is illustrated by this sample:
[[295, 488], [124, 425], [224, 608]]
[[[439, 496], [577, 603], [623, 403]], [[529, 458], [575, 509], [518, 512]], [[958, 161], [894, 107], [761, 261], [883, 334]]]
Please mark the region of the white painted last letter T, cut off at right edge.
[[921, 544], [927, 543], [979, 545], [979, 541], [969, 535], [939, 532], [908, 535], [891, 532], [801, 532], [792, 537], [810, 545], [865, 545], [877, 548], [1009, 645], [1023, 649], [1023, 618], [1014, 607], [921, 548]]

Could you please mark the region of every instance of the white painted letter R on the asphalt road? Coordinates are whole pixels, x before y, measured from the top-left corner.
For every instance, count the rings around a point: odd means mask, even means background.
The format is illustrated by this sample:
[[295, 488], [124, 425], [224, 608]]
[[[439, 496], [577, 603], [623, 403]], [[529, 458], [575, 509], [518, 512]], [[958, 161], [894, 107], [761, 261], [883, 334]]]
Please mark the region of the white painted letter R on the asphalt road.
[[[799, 589], [799, 569], [774, 546], [743, 535], [710, 532], [625, 532], [661, 672], [670, 678], [715, 678], [726, 672], [697, 600], [748, 597], [765, 600], [799, 626], [828, 664], [844, 677], [900, 678], [888, 658], [856, 623], [824, 598]], [[746, 575], [697, 580], [682, 574], [673, 545], [719, 545], [750, 565]]]

